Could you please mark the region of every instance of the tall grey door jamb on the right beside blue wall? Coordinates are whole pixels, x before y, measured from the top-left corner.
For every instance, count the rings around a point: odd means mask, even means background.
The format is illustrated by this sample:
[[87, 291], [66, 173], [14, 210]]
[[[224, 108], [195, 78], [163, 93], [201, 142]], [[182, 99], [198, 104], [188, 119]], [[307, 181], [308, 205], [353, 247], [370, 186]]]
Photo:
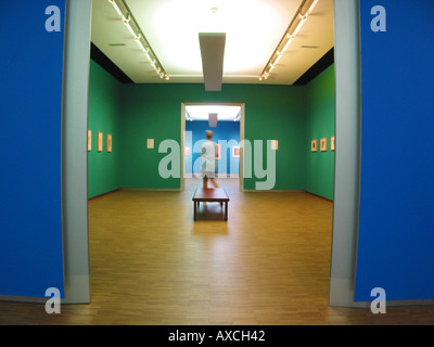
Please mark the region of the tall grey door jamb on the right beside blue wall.
[[360, 20], [358, 0], [334, 0], [336, 150], [331, 306], [354, 303], [360, 168]]

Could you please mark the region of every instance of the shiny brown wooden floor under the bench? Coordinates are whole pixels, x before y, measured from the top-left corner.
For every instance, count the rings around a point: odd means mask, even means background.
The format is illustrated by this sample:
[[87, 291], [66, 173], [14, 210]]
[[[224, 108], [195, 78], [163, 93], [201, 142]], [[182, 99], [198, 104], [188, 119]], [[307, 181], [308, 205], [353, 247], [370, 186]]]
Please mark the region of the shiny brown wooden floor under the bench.
[[306, 193], [119, 191], [89, 203], [90, 305], [0, 303], [0, 324], [433, 324], [433, 307], [386, 314], [328, 305], [333, 205]]

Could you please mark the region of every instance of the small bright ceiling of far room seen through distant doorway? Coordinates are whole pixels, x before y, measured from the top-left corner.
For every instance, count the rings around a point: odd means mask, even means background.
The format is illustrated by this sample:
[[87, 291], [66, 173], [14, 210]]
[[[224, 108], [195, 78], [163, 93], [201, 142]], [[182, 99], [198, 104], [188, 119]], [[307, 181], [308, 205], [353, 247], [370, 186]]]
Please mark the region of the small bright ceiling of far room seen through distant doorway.
[[224, 105], [188, 105], [186, 106], [186, 118], [188, 120], [208, 120], [209, 114], [217, 114], [218, 121], [240, 120], [240, 106]]

